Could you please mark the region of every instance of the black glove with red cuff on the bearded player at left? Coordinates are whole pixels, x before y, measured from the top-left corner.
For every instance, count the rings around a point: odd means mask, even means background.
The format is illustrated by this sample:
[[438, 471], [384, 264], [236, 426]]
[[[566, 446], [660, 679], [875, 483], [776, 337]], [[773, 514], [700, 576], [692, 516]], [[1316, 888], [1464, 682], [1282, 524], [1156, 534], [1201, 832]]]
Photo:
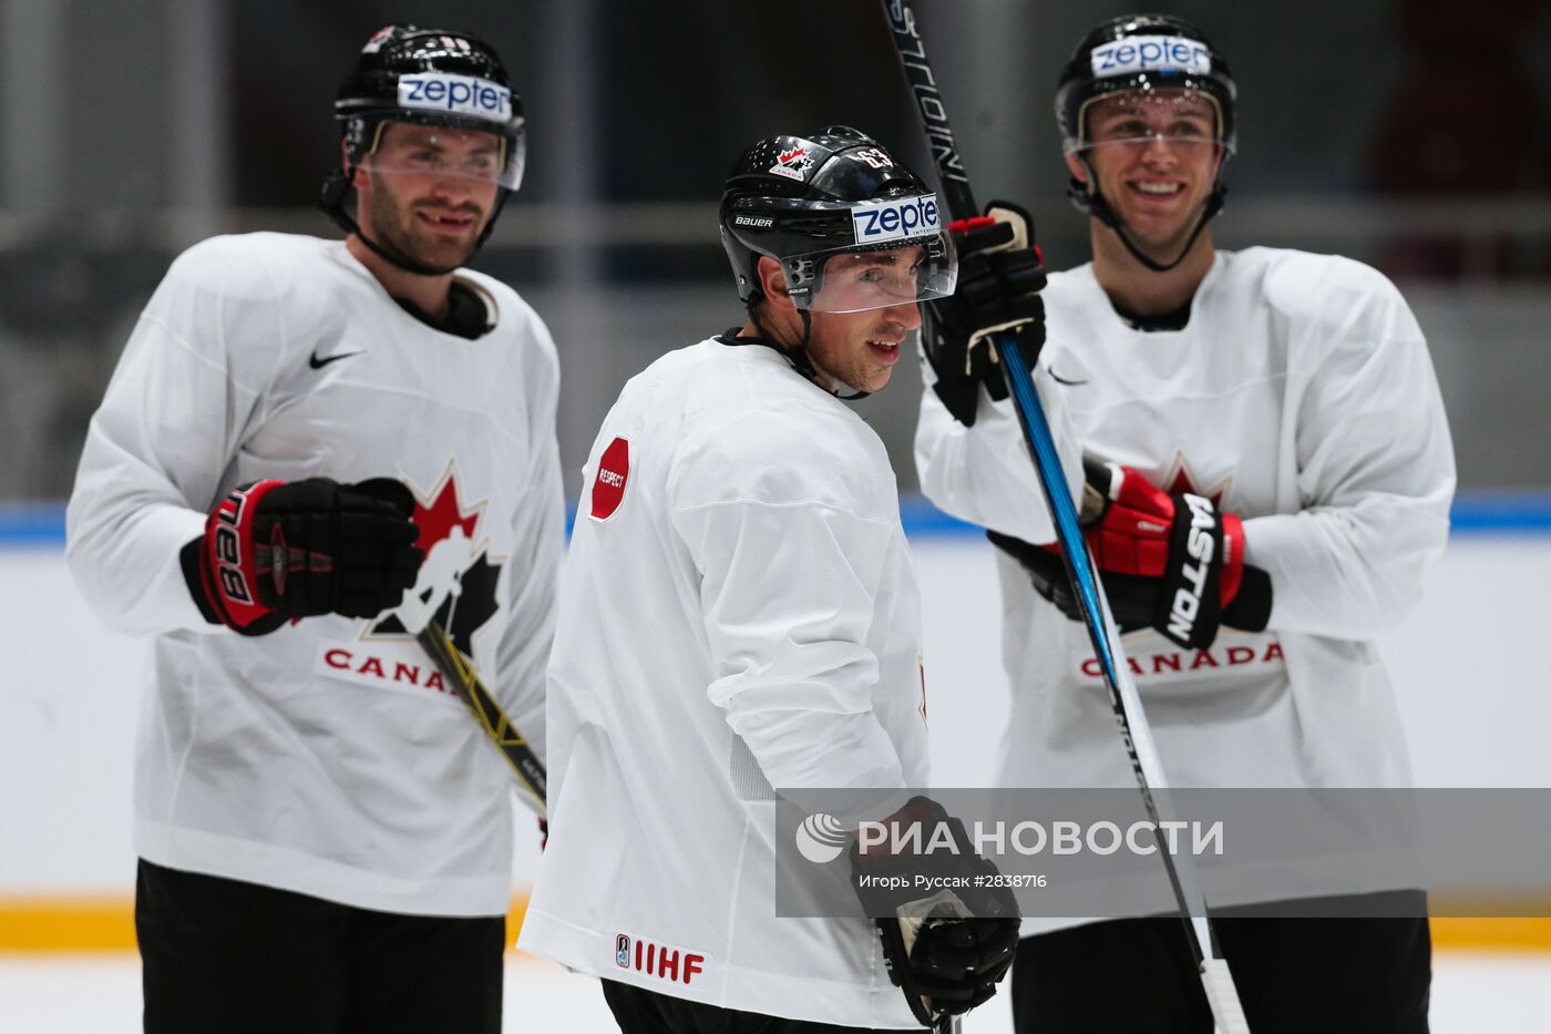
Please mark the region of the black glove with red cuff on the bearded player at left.
[[413, 514], [392, 478], [245, 484], [183, 546], [183, 576], [208, 621], [244, 635], [321, 613], [371, 618], [399, 604], [425, 559]]

